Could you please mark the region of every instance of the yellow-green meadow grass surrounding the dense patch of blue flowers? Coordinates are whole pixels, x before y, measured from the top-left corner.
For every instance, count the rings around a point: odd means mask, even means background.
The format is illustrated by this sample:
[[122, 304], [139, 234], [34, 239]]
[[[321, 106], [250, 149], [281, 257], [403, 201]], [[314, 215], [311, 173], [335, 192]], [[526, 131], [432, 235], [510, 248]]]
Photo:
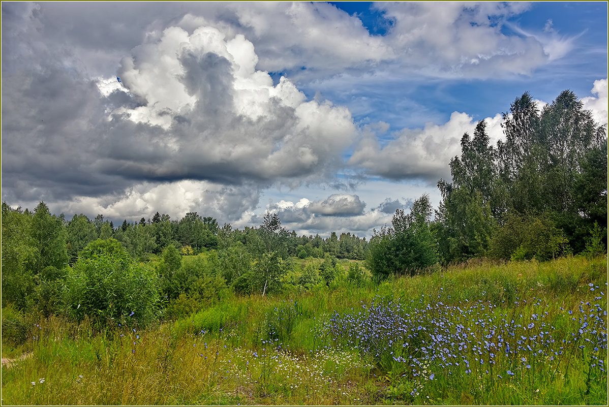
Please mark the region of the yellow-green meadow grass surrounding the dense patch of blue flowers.
[[[344, 263], [347, 270], [348, 262]], [[573, 332], [576, 324], [567, 310], [576, 310], [580, 302], [592, 301], [596, 295], [588, 284], [606, 293], [606, 283], [606, 258], [571, 257], [547, 263], [454, 266], [428, 275], [395, 277], [379, 285], [354, 287], [343, 282], [313, 293], [231, 296], [188, 318], [141, 331], [135, 328], [135, 332], [133, 327], [118, 325], [96, 332], [87, 321], [40, 319], [35, 322], [40, 327], [30, 330], [24, 344], [3, 343], [4, 357], [18, 352], [32, 352], [32, 357], [2, 367], [2, 402], [606, 405], [607, 376], [590, 369], [588, 350], [582, 352], [576, 346], [560, 363], [536, 364], [530, 370], [498, 357], [498, 369], [515, 366], [511, 368], [516, 372], [501, 380], [478, 378], [474, 369], [476, 376], [468, 380], [441, 370], [435, 370], [434, 380], [429, 380], [429, 372], [404, 376], [406, 370], [399, 364], [383, 370], [369, 355], [339, 346], [323, 330], [335, 311], [357, 313], [362, 303], [372, 301], [400, 299], [412, 307], [442, 302], [461, 308], [478, 302], [494, 306], [488, 318], [523, 315], [523, 321], [534, 312], [533, 303], [542, 301], [547, 305], [545, 322], [554, 326], [553, 335], [560, 338]], [[9, 316], [17, 318], [14, 310]], [[284, 332], [269, 335], [269, 321]], [[429, 366], [432, 369], [437, 366]], [[413, 395], [415, 388], [418, 394]]]

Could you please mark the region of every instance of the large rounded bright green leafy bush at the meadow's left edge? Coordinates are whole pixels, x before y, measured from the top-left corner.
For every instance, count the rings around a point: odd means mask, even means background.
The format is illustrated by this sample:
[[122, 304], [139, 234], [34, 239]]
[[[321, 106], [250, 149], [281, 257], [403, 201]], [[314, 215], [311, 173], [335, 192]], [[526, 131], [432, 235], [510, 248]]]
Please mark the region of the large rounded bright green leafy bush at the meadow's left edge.
[[80, 254], [68, 274], [69, 315], [101, 324], [122, 319], [145, 325], [155, 318], [158, 277], [134, 262], [117, 240], [96, 240]]

